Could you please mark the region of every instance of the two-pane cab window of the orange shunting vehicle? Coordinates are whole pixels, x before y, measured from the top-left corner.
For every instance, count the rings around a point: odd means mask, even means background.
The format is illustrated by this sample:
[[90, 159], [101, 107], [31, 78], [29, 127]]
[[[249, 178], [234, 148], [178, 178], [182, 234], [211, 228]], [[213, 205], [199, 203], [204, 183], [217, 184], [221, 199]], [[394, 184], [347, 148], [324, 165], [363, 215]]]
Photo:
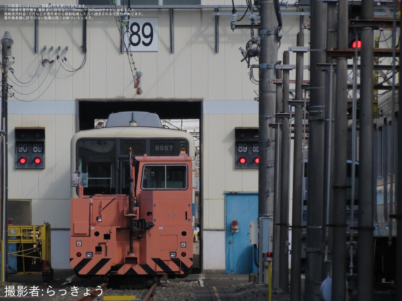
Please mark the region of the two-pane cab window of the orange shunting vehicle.
[[187, 189], [187, 165], [145, 165], [142, 189]]

